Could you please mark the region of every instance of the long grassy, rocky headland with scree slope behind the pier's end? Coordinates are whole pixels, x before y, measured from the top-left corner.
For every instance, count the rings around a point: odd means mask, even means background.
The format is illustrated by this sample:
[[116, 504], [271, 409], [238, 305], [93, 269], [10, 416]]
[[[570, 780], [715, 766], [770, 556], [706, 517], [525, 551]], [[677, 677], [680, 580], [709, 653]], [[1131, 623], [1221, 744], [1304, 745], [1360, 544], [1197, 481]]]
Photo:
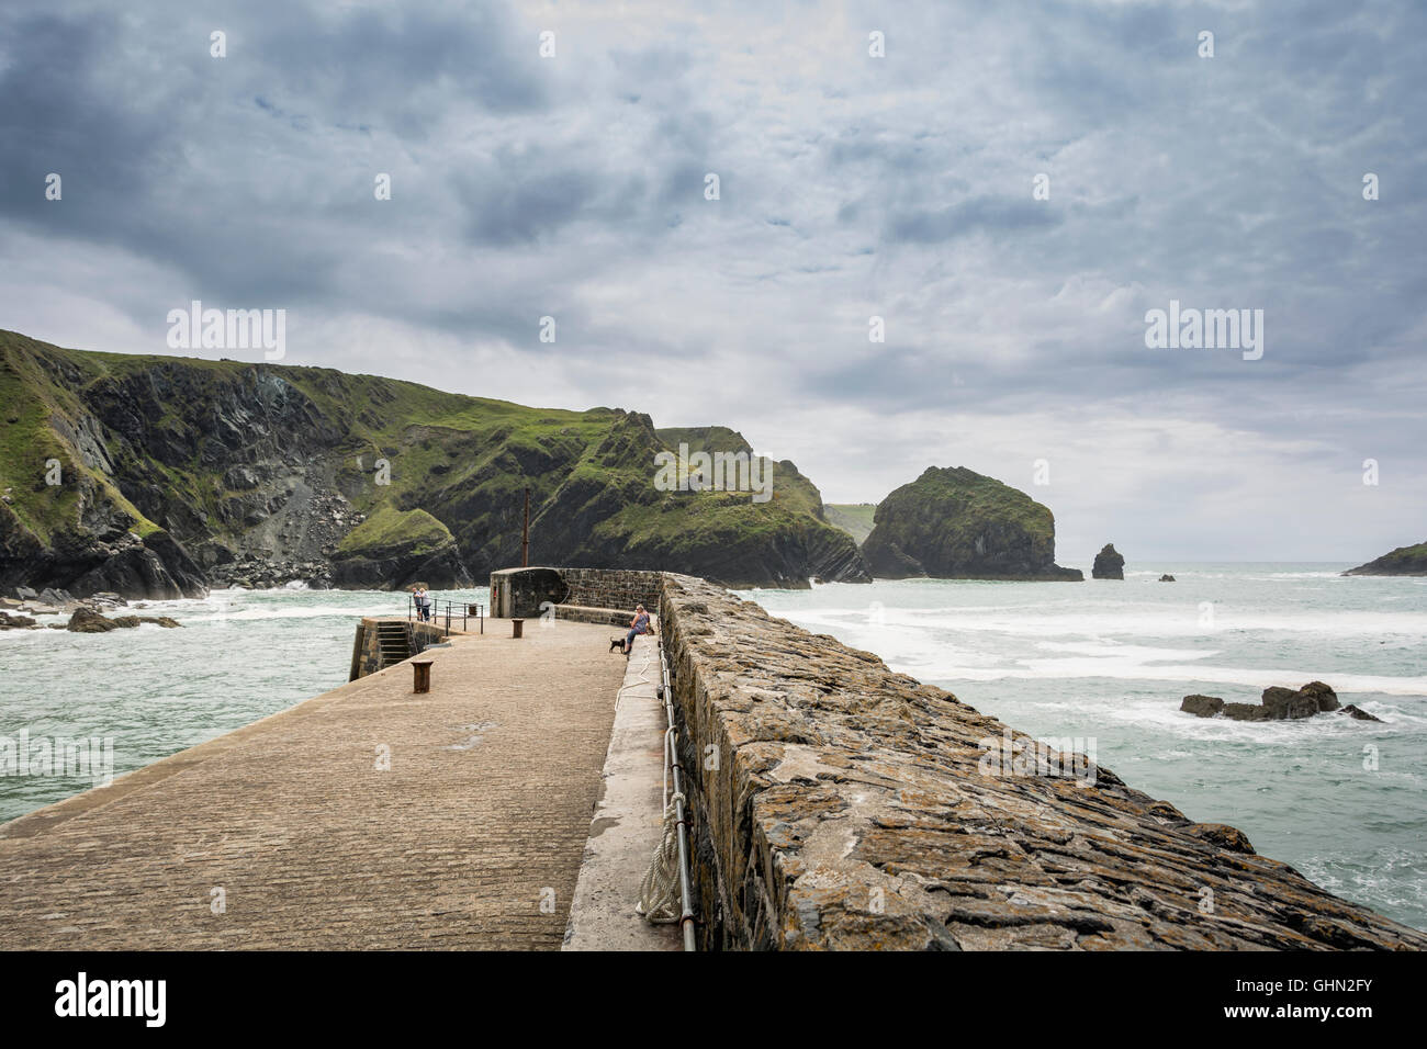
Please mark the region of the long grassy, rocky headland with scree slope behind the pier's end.
[[61, 350], [3, 331], [0, 394], [0, 588], [171, 598], [288, 579], [469, 585], [519, 562], [527, 487], [532, 559], [738, 585], [866, 578], [791, 462], [761, 504], [661, 491], [666, 445], [646, 415], [621, 410]]

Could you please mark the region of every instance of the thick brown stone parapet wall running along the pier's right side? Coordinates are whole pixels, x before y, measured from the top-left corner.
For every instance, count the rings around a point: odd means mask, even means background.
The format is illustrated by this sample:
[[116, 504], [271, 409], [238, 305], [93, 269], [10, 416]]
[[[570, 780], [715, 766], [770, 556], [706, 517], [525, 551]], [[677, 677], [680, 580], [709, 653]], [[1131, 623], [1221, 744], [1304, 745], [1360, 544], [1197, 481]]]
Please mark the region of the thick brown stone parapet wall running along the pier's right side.
[[1083, 755], [665, 575], [705, 949], [1424, 949]]

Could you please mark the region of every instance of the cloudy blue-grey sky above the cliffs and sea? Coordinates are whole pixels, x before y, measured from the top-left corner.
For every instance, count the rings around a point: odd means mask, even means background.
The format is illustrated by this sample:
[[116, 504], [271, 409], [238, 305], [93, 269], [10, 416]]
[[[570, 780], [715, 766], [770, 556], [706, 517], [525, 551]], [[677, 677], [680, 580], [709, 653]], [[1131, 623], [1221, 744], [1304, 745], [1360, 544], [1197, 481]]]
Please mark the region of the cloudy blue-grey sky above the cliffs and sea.
[[[729, 425], [831, 502], [966, 465], [1062, 564], [1366, 561], [1427, 538], [1424, 39], [1340, 0], [7, 0], [0, 327], [176, 353], [190, 300], [283, 308], [287, 363]], [[1147, 348], [1170, 300], [1263, 310], [1261, 360]]]

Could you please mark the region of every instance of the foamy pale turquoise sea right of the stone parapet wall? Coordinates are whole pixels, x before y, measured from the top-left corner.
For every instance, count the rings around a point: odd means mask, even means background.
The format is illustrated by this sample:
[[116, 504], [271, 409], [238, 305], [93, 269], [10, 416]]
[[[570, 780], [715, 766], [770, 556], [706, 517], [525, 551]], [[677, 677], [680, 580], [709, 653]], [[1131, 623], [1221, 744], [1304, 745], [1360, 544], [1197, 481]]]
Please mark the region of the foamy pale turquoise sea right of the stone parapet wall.
[[[743, 597], [1033, 736], [1093, 741], [1129, 785], [1427, 928], [1427, 579], [1339, 575], [1350, 567], [1167, 564], [1123, 582], [910, 579]], [[1313, 679], [1384, 724], [1179, 712], [1190, 692], [1259, 702], [1269, 685]]]

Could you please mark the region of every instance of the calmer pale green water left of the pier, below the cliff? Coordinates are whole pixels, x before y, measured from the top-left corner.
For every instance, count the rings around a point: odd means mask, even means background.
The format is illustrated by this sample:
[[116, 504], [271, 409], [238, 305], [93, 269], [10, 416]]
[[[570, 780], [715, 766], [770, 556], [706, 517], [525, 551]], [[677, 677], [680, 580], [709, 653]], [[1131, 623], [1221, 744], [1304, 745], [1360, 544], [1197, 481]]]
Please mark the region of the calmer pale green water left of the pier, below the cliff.
[[[484, 605], [487, 589], [432, 598]], [[405, 594], [378, 591], [231, 589], [146, 604], [183, 629], [0, 632], [0, 748], [21, 729], [31, 752], [54, 736], [107, 738], [121, 775], [347, 684], [357, 621], [405, 615]], [[0, 776], [0, 822], [94, 778]]]

